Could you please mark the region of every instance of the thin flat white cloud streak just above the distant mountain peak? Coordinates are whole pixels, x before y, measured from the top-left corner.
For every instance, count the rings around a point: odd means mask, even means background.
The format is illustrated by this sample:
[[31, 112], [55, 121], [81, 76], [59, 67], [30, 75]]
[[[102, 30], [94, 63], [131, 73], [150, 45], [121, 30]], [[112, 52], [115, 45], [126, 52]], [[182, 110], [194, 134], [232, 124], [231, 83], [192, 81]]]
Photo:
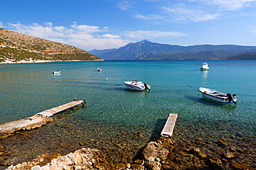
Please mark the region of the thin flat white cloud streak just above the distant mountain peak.
[[131, 39], [151, 39], [163, 36], [186, 36], [182, 32], [161, 32], [161, 31], [127, 31], [125, 34]]

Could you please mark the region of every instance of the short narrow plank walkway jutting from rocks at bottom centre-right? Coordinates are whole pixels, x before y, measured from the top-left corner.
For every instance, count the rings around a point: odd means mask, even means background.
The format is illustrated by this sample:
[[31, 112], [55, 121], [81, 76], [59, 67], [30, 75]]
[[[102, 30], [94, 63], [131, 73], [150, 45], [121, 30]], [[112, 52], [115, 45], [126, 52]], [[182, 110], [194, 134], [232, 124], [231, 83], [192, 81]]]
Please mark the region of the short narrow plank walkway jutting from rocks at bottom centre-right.
[[178, 118], [178, 114], [173, 114], [173, 113], [169, 114], [165, 123], [165, 127], [163, 127], [163, 131], [161, 132], [161, 136], [163, 137], [172, 136], [172, 132], [174, 131], [174, 126], [177, 118]]

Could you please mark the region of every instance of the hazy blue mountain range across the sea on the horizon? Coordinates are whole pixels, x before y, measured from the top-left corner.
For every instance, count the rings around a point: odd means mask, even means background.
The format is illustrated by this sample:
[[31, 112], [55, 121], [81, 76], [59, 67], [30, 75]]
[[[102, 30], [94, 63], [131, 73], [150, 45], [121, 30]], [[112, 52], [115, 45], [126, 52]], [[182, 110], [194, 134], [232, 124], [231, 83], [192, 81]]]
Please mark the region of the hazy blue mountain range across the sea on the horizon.
[[[93, 50], [104, 60], [192, 60], [229, 59], [230, 56], [255, 52], [256, 46], [242, 45], [168, 45], [143, 40], [118, 49]], [[256, 53], [256, 52], [255, 52]]]

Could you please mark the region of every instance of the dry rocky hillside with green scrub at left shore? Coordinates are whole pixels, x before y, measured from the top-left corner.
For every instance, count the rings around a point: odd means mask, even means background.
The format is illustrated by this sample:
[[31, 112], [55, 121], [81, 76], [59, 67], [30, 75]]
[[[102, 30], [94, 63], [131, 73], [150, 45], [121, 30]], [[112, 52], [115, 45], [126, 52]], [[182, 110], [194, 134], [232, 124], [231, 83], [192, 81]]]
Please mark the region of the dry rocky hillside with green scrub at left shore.
[[80, 48], [0, 28], [0, 63], [4, 61], [101, 60]]

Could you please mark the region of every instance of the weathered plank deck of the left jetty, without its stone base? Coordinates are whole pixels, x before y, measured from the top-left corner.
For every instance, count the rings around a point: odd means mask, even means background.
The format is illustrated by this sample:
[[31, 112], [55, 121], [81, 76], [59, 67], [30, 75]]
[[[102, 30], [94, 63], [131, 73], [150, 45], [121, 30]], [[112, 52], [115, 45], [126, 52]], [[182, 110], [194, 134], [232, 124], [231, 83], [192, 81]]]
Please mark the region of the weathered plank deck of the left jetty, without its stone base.
[[59, 113], [60, 111], [64, 111], [66, 109], [69, 109], [69, 108], [74, 107], [76, 105], [80, 105], [82, 103], [84, 103], [83, 100], [75, 100], [73, 102], [66, 103], [65, 105], [61, 105], [61, 106], [58, 106], [58, 107], [54, 107], [52, 109], [48, 109], [48, 110], [39, 112], [36, 115], [37, 116], [42, 116], [42, 117], [51, 117], [51, 116]]

